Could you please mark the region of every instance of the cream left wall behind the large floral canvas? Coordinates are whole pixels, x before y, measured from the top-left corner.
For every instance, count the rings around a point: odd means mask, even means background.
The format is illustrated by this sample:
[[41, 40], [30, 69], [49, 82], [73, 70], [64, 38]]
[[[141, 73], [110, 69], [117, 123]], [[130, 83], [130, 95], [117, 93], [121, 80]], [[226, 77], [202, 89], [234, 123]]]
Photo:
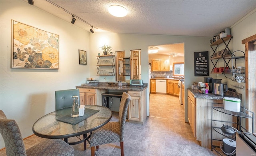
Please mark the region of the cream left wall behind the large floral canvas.
[[[87, 65], [78, 62], [78, 49], [86, 50], [90, 58], [89, 32], [26, 1], [1, 0], [0, 7], [0, 109], [16, 120], [22, 136], [27, 137], [33, 134], [32, 125], [38, 118], [55, 110], [55, 90], [75, 88], [89, 77], [91, 60]], [[11, 19], [59, 35], [59, 70], [10, 68]]]

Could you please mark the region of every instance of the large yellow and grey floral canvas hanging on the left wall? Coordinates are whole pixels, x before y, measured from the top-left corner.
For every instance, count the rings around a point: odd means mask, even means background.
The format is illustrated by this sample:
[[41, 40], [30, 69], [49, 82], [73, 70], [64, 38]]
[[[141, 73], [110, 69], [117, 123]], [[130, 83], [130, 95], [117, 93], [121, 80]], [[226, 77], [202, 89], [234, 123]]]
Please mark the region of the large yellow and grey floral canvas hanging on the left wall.
[[12, 20], [12, 68], [59, 69], [59, 36]]

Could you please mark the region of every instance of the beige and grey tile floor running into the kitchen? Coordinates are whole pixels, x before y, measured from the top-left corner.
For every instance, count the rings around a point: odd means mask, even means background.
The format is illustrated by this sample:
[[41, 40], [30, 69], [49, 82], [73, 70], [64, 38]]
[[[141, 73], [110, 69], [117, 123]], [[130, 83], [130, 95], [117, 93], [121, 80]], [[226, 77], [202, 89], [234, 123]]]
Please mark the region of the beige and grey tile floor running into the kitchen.
[[[112, 121], [118, 120], [114, 113]], [[70, 138], [70, 141], [77, 138]], [[24, 140], [29, 148], [44, 138], [32, 136]], [[73, 145], [75, 156], [90, 156], [90, 146]], [[100, 146], [98, 156], [120, 156], [119, 143]], [[184, 122], [184, 106], [179, 98], [164, 94], [150, 94], [150, 116], [144, 125], [126, 122], [125, 156], [215, 156], [210, 149], [203, 148], [195, 140], [189, 124]], [[6, 156], [5, 150], [0, 156]]]

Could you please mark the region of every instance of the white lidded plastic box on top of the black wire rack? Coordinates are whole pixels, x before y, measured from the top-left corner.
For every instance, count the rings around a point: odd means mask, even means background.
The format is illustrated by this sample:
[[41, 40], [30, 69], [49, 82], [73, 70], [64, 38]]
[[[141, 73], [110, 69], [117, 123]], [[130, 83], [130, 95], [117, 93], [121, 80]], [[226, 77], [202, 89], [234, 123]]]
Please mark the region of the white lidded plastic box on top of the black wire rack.
[[223, 104], [225, 110], [240, 112], [241, 100], [239, 98], [224, 97]]

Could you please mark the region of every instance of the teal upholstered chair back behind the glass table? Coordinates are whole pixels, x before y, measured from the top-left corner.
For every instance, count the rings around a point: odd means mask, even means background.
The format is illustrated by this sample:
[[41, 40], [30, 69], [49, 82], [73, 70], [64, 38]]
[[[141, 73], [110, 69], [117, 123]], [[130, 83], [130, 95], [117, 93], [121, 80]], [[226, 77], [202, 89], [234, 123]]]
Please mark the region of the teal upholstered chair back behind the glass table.
[[[79, 89], [57, 90], [55, 91], [55, 110], [61, 110], [63, 108], [72, 107], [72, 96], [79, 97]], [[80, 106], [80, 98], [78, 98], [78, 104]]]

